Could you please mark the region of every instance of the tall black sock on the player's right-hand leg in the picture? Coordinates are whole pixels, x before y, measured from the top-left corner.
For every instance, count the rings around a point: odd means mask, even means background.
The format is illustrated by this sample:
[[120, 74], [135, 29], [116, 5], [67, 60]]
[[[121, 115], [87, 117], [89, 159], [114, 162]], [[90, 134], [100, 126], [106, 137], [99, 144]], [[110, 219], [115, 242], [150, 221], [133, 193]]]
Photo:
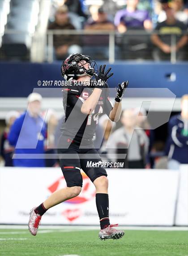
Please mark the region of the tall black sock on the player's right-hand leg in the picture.
[[97, 193], [96, 206], [97, 206], [98, 216], [100, 219], [101, 229], [104, 229], [106, 226], [110, 225], [108, 194]]

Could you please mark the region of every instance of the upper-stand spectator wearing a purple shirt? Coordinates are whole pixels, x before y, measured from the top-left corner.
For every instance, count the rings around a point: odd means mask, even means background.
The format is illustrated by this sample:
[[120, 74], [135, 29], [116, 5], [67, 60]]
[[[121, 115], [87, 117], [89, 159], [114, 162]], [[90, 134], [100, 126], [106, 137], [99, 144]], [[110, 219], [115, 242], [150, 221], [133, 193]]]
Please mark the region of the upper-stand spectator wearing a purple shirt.
[[128, 29], [152, 29], [149, 12], [137, 9], [139, 0], [127, 0], [126, 9], [120, 10], [115, 15], [115, 26], [120, 33]]

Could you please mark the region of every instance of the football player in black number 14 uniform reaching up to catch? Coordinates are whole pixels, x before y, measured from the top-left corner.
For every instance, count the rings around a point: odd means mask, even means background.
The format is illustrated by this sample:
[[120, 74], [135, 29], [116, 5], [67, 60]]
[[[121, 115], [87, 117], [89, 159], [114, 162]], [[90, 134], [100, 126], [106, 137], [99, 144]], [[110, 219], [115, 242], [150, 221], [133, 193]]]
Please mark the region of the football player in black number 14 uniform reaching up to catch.
[[[118, 85], [115, 104], [112, 106], [107, 85], [107, 80], [113, 75], [109, 74], [111, 67], [106, 72], [106, 65], [101, 65], [99, 70], [96, 67], [90, 56], [82, 54], [69, 55], [61, 66], [62, 76], [70, 83], [70, 86], [63, 89], [65, 121], [58, 147], [60, 166], [67, 187], [57, 190], [30, 211], [28, 226], [32, 235], [37, 234], [41, 217], [49, 208], [79, 195], [82, 169], [96, 188], [96, 206], [101, 228], [99, 238], [119, 239], [124, 236], [123, 230], [114, 228], [117, 224], [110, 224], [107, 172], [100, 166], [102, 160], [94, 148], [93, 137], [100, 115], [106, 113], [115, 122], [120, 119], [121, 99], [128, 81]], [[95, 80], [91, 80], [93, 76]], [[88, 167], [88, 161], [94, 162], [94, 165]]]

